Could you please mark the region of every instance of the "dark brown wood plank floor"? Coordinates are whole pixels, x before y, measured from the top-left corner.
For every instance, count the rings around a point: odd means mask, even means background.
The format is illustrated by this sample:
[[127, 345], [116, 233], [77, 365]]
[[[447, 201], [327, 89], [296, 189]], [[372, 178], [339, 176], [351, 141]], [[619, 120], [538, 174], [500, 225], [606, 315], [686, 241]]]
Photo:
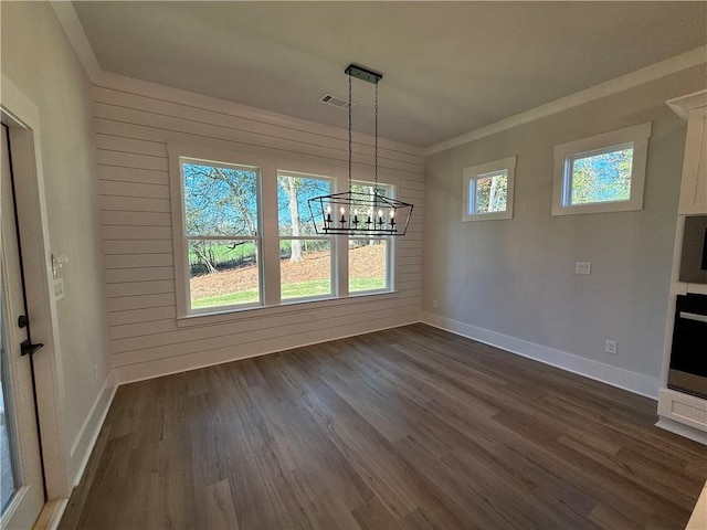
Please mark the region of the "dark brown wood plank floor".
[[63, 529], [682, 529], [656, 404], [424, 325], [120, 386]]

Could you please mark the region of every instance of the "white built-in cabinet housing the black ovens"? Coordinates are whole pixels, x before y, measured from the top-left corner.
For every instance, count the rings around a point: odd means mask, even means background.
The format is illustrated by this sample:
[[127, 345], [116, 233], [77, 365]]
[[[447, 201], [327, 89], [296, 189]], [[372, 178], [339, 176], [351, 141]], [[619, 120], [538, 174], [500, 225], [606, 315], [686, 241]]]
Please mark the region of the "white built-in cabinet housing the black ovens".
[[667, 388], [676, 297], [687, 293], [707, 294], [707, 285], [679, 280], [685, 219], [690, 215], [707, 214], [707, 89], [666, 103], [678, 116], [687, 120], [687, 136], [665, 332], [663, 379], [658, 394], [657, 425], [707, 444], [707, 400]]

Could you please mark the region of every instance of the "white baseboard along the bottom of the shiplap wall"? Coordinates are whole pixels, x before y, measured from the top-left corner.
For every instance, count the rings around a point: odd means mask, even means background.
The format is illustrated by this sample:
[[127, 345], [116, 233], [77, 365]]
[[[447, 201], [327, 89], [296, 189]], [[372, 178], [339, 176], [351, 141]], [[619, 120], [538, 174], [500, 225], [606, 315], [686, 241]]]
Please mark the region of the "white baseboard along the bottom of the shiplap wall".
[[419, 322], [414, 314], [402, 316], [399, 319], [386, 319], [384, 326], [371, 326], [370, 322], [361, 322], [359, 325], [347, 325], [339, 328], [323, 329], [318, 332], [307, 335], [307, 339], [293, 343], [292, 337], [278, 337], [272, 340], [262, 340], [251, 344], [251, 348], [224, 348], [220, 350], [205, 351], [177, 358], [158, 359], [154, 361], [141, 362], [139, 364], [128, 364], [124, 367], [114, 367], [115, 380], [118, 385], [145, 381], [148, 379], [171, 375], [172, 373], [188, 372], [200, 368], [213, 367], [224, 362], [240, 361], [253, 357], [267, 356], [281, 351], [292, 350], [294, 348], [304, 348], [307, 346], [319, 344], [330, 340], [345, 339], [357, 335], [372, 333], [384, 329], [399, 328]]

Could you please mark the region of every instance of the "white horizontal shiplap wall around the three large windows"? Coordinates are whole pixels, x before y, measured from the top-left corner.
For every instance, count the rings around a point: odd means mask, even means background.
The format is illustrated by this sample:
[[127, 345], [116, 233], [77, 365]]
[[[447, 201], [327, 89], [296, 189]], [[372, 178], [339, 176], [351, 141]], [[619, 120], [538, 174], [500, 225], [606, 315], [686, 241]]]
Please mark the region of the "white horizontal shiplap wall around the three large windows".
[[[420, 149], [381, 141], [379, 152], [381, 174], [397, 182], [399, 199], [414, 203], [408, 235], [397, 241], [397, 293], [177, 320], [167, 142], [345, 165], [347, 132], [125, 80], [94, 87], [94, 113], [109, 342], [118, 382], [419, 320]], [[372, 163], [371, 146], [372, 138], [355, 135], [356, 167]]]

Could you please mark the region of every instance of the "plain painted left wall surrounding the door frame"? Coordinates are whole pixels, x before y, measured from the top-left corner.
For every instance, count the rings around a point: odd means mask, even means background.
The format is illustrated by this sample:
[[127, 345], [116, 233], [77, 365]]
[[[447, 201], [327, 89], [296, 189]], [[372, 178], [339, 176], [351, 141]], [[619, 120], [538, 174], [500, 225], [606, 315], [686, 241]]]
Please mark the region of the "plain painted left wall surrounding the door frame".
[[94, 404], [107, 401], [104, 382], [110, 368], [91, 84], [48, 3], [2, 2], [1, 10], [2, 74], [39, 109], [49, 241], [51, 251], [70, 259], [60, 273], [66, 295], [56, 303], [54, 339], [63, 392], [62, 445], [73, 479], [95, 434]]

